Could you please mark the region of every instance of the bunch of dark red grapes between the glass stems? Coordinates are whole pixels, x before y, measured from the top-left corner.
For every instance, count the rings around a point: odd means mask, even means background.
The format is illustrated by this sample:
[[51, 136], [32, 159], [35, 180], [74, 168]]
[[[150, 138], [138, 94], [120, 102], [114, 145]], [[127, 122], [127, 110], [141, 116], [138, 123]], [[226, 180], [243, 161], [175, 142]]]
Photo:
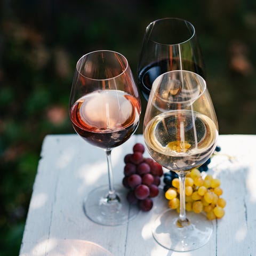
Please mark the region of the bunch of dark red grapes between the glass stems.
[[124, 157], [123, 186], [129, 189], [127, 201], [138, 204], [142, 211], [150, 211], [153, 207], [151, 198], [159, 193], [163, 168], [151, 158], [144, 158], [145, 147], [141, 143], [133, 146], [133, 154]]

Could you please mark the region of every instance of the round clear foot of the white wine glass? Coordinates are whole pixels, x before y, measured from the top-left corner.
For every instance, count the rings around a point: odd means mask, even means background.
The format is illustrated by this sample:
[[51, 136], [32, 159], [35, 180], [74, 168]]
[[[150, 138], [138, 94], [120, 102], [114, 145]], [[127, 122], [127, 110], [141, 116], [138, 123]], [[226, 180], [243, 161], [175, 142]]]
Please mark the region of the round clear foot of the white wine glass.
[[159, 215], [153, 226], [153, 236], [166, 249], [187, 252], [205, 245], [212, 235], [212, 222], [205, 215], [187, 212], [189, 225], [178, 227], [179, 214], [175, 210], [167, 210]]

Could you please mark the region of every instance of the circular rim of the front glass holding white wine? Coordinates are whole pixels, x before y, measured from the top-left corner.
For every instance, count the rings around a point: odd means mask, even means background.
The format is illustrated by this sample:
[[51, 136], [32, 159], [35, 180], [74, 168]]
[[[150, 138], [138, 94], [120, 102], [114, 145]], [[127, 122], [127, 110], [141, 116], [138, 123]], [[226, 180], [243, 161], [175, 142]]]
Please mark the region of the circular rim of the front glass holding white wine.
[[[201, 79], [201, 80], [203, 81], [203, 90], [197, 95], [197, 97], [191, 98], [191, 99], [189, 99], [189, 100], [183, 100], [183, 101], [171, 101], [171, 100], [163, 99], [163, 97], [161, 97], [161, 96], [159, 97], [159, 94], [156, 94], [156, 87], [158, 86], [158, 83], [156, 83], [156, 82], [158, 81], [158, 79], [160, 79], [160, 78], [163, 77], [164, 75], [170, 74], [170, 73], [190, 73], [191, 75], [197, 76], [199, 79]], [[202, 84], [202, 83], [200, 83], [200, 84]], [[181, 104], [184, 104], [184, 103], [193, 102], [193, 101], [199, 99], [199, 98], [204, 94], [204, 92], [206, 91], [206, 81], [205, 81], [205, 79], [204, 79], [202, 76], [200, 76], [200, 75], [198, 75], [197, 73], [194, 73], [194, 72], [192, 72], [192, 71], [189, 71], [189, 70], [171, 70], [171, 71], [167, 71], [167, 72], [165, 72], [165, 73], [159, 75], [159, 76], [155, 79], [155, 81], [154, 81], [153, 84], [152, 84], [151, 91], [153, 91], [154, 95], [156, 95], [156, 98], [161, 99], [161, 100], [163, 100], [164, 102], [170, 102], [170, 103], [172, 103], [172, 104], [180, 104], [180, 103], [181, 103]], [[151, 93], [150, 93], [150, 94], [151, 94]]]

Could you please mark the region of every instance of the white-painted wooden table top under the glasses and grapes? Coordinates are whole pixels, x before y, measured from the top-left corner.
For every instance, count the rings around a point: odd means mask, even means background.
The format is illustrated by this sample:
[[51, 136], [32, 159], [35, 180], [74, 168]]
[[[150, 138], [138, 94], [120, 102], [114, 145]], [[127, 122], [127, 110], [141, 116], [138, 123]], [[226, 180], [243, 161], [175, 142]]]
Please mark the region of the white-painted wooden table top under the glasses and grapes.
[[[132, 153], [135, 142], [143, 143], [142, 135], [133, 135], [113, 150], [115, 183], [122, 182], [123, 158]], [[127, 225], [100, 226], [87, 219], [82, 208], [85, 195], [107, 183], [105, 153], [77, 135], [48, 135], [43, 142], [20, 256], [94, 255], [95, 246], [91, 245], [99, 245], [115, 256], [255, 256], [256, 135], [220, 135], [218, 145], [221, 154], [212, 158], [208, 172], [221, 180], [222, 197], [227, 201], [225, 217], [213, 221], [209, 243], [179, 253], [158, 245], [151, 234], [152, 222], [166, 205], [162, 195], [154, 198], [150, 212], [140, 212]]]

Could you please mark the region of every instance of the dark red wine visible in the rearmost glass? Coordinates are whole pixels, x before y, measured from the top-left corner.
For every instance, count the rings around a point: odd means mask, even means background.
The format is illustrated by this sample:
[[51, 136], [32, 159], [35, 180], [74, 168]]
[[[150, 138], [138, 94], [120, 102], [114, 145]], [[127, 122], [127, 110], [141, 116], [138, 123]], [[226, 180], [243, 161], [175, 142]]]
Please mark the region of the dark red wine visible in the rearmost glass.
[[[179, 70], [179, 69], [180, 69], [179, 59], [173, 58], [172, 60], [163, 59], [157, 62], [153, 62], [148, 66], [139, 70], [139, 75], [138, 75], [139, 87], [145, 99], [148, 100], [152, 84], [159, 75], [164, 74], [167, 71]], [[192, 61], [183, 60], [182, 69], [197, 73], [203, 78], [205, 76], [203, 69], [198, 65], [196, 65], [195, 62], [192, 62]]]

